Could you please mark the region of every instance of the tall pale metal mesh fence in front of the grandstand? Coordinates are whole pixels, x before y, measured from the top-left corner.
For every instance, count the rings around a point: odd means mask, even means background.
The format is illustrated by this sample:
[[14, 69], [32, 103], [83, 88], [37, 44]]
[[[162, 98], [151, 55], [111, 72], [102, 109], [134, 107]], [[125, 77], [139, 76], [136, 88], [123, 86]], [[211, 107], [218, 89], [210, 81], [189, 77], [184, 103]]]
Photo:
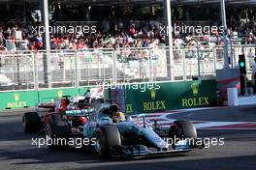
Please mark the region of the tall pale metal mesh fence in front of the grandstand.
[[[251, 72], [253, 45], [233, 46], [231, 65], [237, 67], [242, 52]], [[217, 46], [12, 51], [0, 54], [0, 91], [190, 80], [214, 77], [223, 67]]]

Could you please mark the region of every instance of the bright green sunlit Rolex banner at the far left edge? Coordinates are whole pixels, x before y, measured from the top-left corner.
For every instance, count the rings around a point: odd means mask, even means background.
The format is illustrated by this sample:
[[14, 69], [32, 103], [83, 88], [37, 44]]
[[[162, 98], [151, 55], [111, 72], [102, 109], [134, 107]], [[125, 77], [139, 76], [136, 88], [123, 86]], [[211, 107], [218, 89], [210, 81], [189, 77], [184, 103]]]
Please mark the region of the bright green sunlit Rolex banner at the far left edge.
[[38, 103], [38, 92], [0, 93], [0, 109], [24, 108]]

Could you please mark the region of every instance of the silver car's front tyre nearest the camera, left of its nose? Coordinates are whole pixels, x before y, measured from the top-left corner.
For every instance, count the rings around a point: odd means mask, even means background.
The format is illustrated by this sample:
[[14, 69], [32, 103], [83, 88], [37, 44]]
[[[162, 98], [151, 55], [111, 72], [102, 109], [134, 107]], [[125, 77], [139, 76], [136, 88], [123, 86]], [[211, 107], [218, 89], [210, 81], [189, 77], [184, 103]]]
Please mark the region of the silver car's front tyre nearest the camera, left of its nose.
[[100, 156], [112, 155], [114, 150], [121, 148], [121, 137], [115, 126], [104, 126], [95, 133], [94, 150]]

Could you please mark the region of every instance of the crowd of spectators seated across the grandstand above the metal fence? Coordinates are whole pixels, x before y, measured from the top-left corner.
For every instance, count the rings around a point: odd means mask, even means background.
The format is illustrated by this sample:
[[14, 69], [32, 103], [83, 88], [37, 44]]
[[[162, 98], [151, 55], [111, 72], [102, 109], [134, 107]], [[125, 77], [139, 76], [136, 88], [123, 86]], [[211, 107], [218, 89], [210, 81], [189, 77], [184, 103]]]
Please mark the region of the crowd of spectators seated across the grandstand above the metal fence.
[[[165, 45], [167, 29], [160, 22], [122, 21], [112, 23], [104, 20], [98, 24], [96, 33], [54, 33], [50, 34], [51, 49], [87, 49], [120, 47], [155, 47]], [[256, 43], [255, 27], [244, 24], [230, 29], [235, 44]], [[17, 33], [20, 34], [17, 34]], [[18, 40], [16, 37], [19, 37]], [[209, 34], [174, 33], [175, 46], [223, 45], [223, 36], [216, 32]], [[43, 49], [42, 34], [33, 32], [31, 26], [18, 23], [0, 23], [0, 50]]]

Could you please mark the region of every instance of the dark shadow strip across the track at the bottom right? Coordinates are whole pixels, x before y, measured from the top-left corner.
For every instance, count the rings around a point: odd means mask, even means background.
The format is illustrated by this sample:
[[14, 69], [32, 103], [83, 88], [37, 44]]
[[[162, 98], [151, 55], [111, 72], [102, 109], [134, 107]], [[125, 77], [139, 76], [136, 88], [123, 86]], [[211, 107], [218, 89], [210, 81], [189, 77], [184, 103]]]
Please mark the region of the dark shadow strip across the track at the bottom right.
[[[243, 163], [240, 163], [240, 162]], [[115, 162], [112, 165], [104, 165], [104, 169], [113, 170], [131, 170], [131, 169], [150, 169], [150, 170], [210, 170], [210, 169], [225, 169], [225, 170], [254, 170], [256, 156], [234, 156], [222, 158], [203, 158], [203, 159], [187, 159], [187, 160], [172, 160], [172, 159], [156, 159], [149, 161], [133, 161], [133, 162]], [[72, 170], [98, 170], [103, 165], [95, 165], [90, 168], [74, 168]], [[70, 169], [71, 170], [71, 169]]]

